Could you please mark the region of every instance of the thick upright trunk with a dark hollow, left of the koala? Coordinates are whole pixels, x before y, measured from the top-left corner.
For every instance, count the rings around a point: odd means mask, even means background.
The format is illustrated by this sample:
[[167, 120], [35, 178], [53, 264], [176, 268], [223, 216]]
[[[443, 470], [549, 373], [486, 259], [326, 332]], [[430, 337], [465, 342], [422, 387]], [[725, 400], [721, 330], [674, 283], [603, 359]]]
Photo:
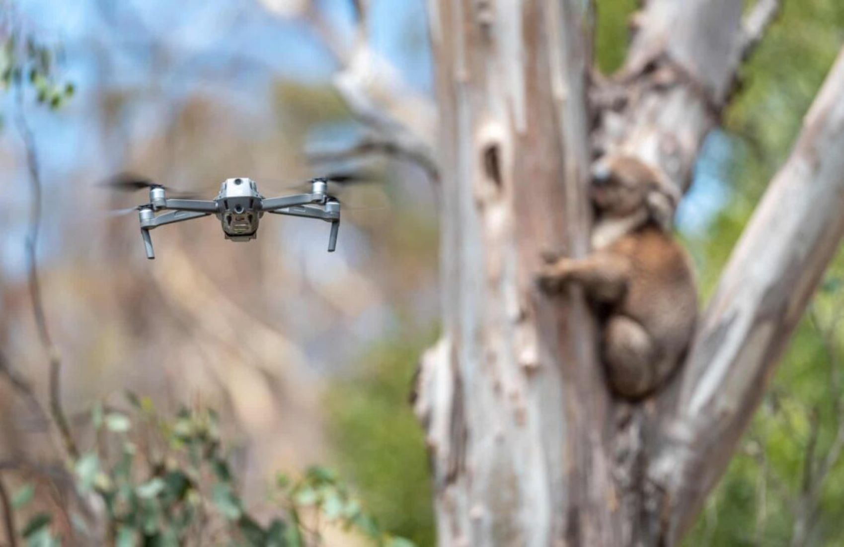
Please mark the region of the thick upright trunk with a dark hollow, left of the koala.
[[[609, 544], [609, 397], [578, 295], [534, 288], [587, 250], [582, 2], [431, 3], [443, 330], [417, 411], [445, 545]], [[563, 212], [561, 214], [561, 212]]]

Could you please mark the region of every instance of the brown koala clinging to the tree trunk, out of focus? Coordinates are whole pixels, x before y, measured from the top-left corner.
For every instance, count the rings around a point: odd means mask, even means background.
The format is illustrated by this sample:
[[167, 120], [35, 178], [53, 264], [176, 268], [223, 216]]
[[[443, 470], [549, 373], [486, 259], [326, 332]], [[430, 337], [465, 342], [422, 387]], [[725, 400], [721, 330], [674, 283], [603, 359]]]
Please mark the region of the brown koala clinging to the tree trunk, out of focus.
[[547, 257], [546, 292], [583, 287], [601, 325], [610, 388], [638, 400], [679, 366], [695, 331], [697, 289], [690, 260], [671, 237], [679, 192], [636, 158], [602, 158], [592, 170], [592, 253]]

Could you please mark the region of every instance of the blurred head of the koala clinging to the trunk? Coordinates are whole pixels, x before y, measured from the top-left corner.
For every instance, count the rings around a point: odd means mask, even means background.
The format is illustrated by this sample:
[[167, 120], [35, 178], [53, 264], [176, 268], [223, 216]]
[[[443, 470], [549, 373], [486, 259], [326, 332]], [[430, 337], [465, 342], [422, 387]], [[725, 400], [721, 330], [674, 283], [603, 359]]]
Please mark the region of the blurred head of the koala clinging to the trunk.
[[679, 190], [637, 158], [607, 156], [592, 167], [589, 197], [602, 217], [630, 217], [644, 208], [647, 217], [670, 230]]

